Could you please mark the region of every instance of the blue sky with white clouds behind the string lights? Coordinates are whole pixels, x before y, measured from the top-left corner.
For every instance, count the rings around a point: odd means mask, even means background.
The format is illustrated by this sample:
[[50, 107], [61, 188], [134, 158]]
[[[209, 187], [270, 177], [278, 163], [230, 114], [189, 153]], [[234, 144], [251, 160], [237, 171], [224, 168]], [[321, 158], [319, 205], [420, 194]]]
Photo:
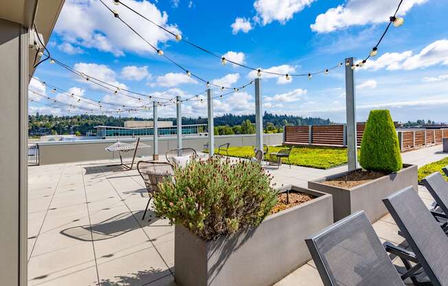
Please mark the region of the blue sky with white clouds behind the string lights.
[[[215, 58], [127, 11], [113, 5], [120, 17], [177, 63], [218, 85], [239, 87], [254, 74]], [[122, 0], [168, 30], [181, 34], [215, 54], [251, 67], [281, 74], [317, 72], [337, 65], [344, 58], [363, 58], [381, 36], [395, 0]], [[400, 28], [390, 28], [379, 53], [357, 70], [357, 115], [366, 120], [371, 109], [387, 108], [394, 120], [431, 119], [448, 122], [448, 30], [445, 0], [404, 0]], [[66, 0], [47, 45], [54, 58], [80, 72], [108, 83], [163, 98], [199, 94], [205, 84], [186, 76], [144, 41], [133, 34], [99, 1]], [[34, 74], [39, 80], [70, 93], [102, 102], [139, 106], [148, 102], [89, 84], [49, 61]], [[52, 93], [32, 81], [30, 89], [62, 102], [97, 109], [68, 94]], [[215, 95], [221, 94], [219, 89]], [[344, 67], [328, 74], [286, 80], [262, 77], [266, 111], [320, 116], [345, 122]], [[47, 102], [30, 93], [34, 100]], [[143, 102], [143, 103], [142, 103]], [[104, 104], [104, 106], [108, 106]], [[254, 87], [214, 100], [215, 114], [254, 113]], [[111, 107], [111, 106], [110, 106]], [[114, 108], [115, 109], [115, 108]], [[31, 102], [30, 112], [66, 114], [65, 109]], [[81, 111], [71, 110], [71, 114]], [[183, 115], [206, 115], [204, 102], [184, 102]], [[128, 115], [128, 113], [125, 113]], [[151, 111], [132, 113], [152, 115]], [[161, 107], [161, 116], [175, 115], [173, 106]], [[124, 115], [122, 113], [122, 115]]]

